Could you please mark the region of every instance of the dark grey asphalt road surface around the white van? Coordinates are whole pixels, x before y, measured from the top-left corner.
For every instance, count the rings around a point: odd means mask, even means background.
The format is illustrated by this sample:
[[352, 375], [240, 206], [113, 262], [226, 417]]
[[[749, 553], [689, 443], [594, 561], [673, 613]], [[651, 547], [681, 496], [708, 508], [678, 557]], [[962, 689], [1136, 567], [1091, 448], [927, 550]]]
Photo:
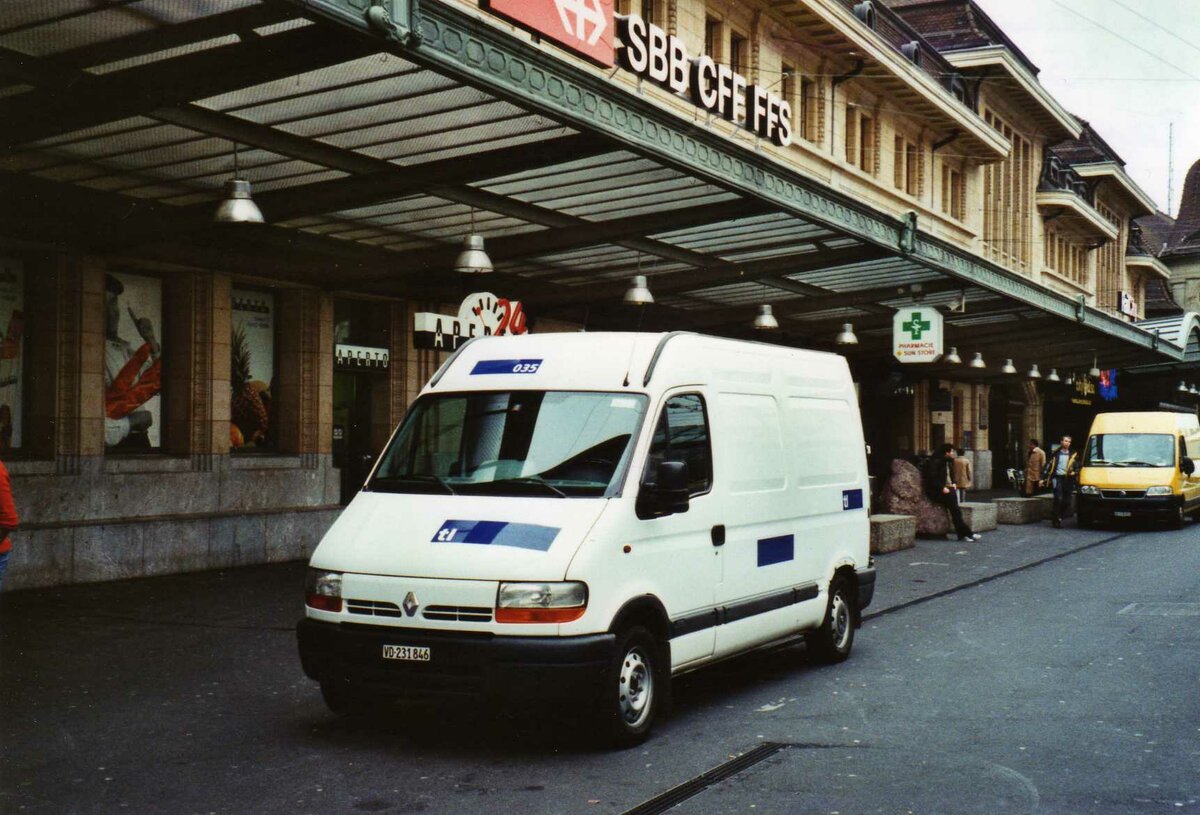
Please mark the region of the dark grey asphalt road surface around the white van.
[[332, 717], [296, 663], [301, 580], [0, 599], [0, 811], [1200, 811], [1195, 523], [886, 556], [850, 661], [797, 646], [690, 675], [616, 753], [536, 712]]

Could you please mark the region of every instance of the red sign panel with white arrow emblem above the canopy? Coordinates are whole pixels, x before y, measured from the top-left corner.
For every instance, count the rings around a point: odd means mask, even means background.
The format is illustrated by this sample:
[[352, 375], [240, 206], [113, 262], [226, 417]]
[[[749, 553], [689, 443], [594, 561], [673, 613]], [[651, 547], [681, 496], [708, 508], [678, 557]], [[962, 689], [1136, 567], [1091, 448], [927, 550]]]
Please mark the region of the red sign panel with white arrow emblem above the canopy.
[[613, 64], [613, 0], [487, 0], [487, 7], [606, 67]]

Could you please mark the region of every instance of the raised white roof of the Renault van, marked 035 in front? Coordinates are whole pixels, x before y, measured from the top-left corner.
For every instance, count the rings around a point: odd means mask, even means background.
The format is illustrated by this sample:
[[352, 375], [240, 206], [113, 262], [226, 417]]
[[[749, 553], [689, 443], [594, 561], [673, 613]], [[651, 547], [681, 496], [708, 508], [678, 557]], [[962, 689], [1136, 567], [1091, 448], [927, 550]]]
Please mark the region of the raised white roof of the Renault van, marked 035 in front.
[[846, 360], [838, 354], [688, 331], [577, 331], [480, 337], [462, 346], [425, 391], [659, 391], [721, 380], [796, 385], [802, 370], [810, 389], [842, 392], [851, 386]]

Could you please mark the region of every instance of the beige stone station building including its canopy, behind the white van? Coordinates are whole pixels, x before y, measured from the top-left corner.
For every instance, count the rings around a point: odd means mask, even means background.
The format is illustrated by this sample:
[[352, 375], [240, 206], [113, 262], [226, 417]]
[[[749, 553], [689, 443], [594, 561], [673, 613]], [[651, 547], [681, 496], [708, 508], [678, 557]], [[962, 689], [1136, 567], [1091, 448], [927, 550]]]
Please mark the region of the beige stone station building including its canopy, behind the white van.
[[968, 0], [158, 5], [0, 12], [12, 588], [307, 556], [487, 332], [845, 353], [874, 468], [979, 486], [1105, 394], [1195, 409], [1153, 202]]

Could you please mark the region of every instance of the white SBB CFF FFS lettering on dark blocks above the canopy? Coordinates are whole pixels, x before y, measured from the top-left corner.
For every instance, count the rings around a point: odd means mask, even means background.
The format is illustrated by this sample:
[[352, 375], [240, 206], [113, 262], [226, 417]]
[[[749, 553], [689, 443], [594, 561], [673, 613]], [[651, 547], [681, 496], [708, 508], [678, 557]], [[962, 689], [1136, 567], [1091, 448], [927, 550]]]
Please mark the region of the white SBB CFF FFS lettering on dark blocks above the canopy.
[[792, 107], [786, 100], [712, 56], [691, 59], [679, 37], [637, 14], [617, 18], [622, 48], [620, 66], [679, 95], [689, 95], [697, 107], [742, 125], [781, 148], [792, 143]]

